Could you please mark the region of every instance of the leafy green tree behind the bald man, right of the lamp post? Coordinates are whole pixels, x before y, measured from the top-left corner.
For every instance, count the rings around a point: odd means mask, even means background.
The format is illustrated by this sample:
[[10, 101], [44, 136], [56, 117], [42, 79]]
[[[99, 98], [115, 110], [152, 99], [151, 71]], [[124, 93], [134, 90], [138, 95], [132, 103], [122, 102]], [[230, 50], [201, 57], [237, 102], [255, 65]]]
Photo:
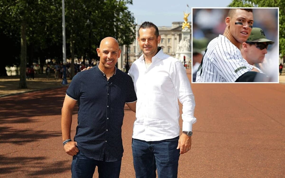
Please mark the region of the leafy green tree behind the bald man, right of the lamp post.
[[[66, 36], [70, 46], [71, 78], [74, 76], [75, 55], [84, 60], [97, 58], [100, 41], [112, 36], [119, 44], [131, 44], [135, 38], [135, 18], [127, 10], [132, 1], [72, 0], [66, 2]], [[98, 6], [100, 4], [100, 6]], [[90, 62], [90, 61], [89, 61]]]

